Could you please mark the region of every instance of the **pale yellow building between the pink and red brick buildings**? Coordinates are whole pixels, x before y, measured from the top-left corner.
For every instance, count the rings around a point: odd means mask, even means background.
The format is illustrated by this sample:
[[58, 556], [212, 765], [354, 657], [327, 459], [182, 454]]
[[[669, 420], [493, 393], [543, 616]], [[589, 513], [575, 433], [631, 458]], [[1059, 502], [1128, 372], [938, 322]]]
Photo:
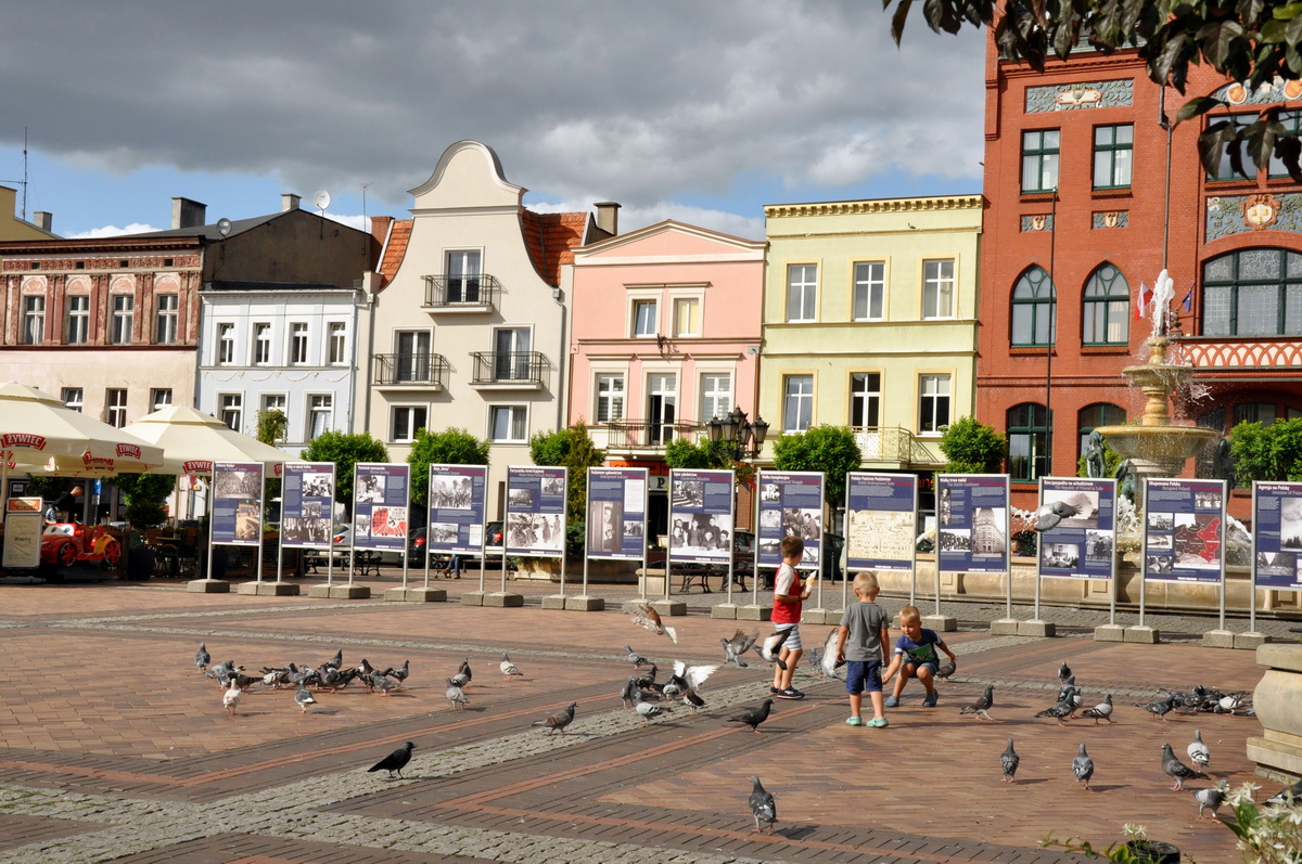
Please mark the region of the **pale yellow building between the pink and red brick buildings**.
[[848, 425], [863, 470], [937, 467], [944, 427], [974, 410], [982, 196], [771, 204], [764, 219], [769, 441]]

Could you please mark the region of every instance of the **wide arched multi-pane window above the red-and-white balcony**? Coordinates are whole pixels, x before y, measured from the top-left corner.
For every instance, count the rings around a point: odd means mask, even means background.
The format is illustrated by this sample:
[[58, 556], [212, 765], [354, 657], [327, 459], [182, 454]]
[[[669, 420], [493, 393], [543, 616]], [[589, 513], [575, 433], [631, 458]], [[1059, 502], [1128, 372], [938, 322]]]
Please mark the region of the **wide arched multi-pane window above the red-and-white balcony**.
[[1203, 336], [1302, 336], [1302, 254], [1243, 249], [1203, 264]]

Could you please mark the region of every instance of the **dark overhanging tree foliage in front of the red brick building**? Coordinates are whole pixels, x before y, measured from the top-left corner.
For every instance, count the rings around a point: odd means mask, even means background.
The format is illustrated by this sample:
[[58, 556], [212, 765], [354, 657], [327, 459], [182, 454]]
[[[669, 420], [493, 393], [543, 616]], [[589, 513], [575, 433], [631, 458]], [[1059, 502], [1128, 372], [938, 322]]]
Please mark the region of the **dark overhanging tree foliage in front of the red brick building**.
[[[896, 43], [904, 36], [913, 0], [883, 0], [896, 7], [891, 33]], [[1276, 75], [1285, 81], [1302, 78], [1302, 3], [1288, 0], [1043, 0], [1040, 3], [997, 3], [996, 0], [926, 0], [922, 4], [927, 26], [936, 33], [958, 33], [963, 22], [992, 27], [1000, 53], [1023, 60], [1036, 72], [1044, 70], [1049, 55], [1066, 59], [1083, 35], [1103, 53], [1138, 47], [1148, 78], [1169, 85], [1181, 94], [1189, 79], [1190, 64], [1206, 62], [1233, 81], [1255, 91]], [[1178, 121], [1190, 120], [1226, 103], [1211, 98], [1189, 100]], [[1203, 165], [1213, 176], [1221, 154], [1229, 151], [1230, 164], [1241, 174], [1242, 146], [1258, 169], [1271, 156], [1279, 156], [1295, 182], [1302, 182], [1298, 155], [1302, 142], [1288, 134], [1279, 120], [1280, 107], [1267, 108], [1249, 126], [1232, 120], [1208, 124], [1198, 141]]]

